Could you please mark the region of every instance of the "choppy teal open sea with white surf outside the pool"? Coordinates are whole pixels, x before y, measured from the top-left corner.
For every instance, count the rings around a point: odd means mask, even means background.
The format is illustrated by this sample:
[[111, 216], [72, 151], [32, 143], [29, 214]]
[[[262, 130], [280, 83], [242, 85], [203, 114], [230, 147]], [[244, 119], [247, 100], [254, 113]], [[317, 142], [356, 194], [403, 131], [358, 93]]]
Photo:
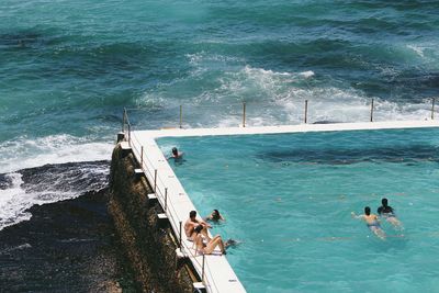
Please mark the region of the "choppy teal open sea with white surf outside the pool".
[[439, 1], [2, 0], [0, 230], [79, 196], [23, 169], [110, 159], [124, 108], [137, 128], [180, 105], [184, 127], [237, 126], [243, 101], [250, 126], [302, 123], [305, 100], [309, 123], [368, 121], [372, 99], [375, 120], [428, 119], [438, 32]]

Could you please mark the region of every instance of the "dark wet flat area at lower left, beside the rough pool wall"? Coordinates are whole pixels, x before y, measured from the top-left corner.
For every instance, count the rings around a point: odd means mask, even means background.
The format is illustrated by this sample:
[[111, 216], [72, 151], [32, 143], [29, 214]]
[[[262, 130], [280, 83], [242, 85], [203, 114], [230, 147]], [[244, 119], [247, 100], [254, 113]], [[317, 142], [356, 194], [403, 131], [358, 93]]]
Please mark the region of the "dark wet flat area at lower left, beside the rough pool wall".
[[30, 221], [0, 230], [0, 292], [135, 292], [106, 190], [34, 205]]

